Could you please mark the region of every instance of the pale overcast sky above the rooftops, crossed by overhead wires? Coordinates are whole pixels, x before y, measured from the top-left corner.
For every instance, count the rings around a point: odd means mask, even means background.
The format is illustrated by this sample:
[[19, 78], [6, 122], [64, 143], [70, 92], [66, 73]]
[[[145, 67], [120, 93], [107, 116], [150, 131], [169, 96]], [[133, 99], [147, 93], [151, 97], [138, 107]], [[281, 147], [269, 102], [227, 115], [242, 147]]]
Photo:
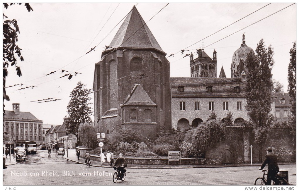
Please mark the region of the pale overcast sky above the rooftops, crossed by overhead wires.
[[[12, 110], [12, 104], [19, 103], [20, 111], [32, 113], [44, 124], [62, 124], [67, 115], [71, 91], [79, 81], [86, 84], [88, 89], [93, 87], [94, 64], [100, 60], [105, 45], [108, 46], [112, 41], [122, 19], [136, 4], [30, 3], [33, 8], [30, 12], [24, 4], [9, 6], [7, 10], [3, 8], [7, 19], [18, 21], [20, 33], [17, 44], [22, 49], [24, 58], [24, 61], [19, 60], [17, 63], [22, 70], [21, 77], [16, 75], [14, 66], [8, 67], [6, 87], [25, 84], [6, 88], [10, 101], [4, 101], [5, 110]], [[199, 47], [204, 47], [210, 57], [213, 57], [215, 49], [217, 76], [223, 66], [226, 76], [230, 77], [232, 56], [241, 46], [244, 33], [246, 45], [253, 50], [262, 38], [267, 47], [271, 44], [275, 61], [273, 78], [284, 85], [286, 92], [289, 51], [296, 41], [296, 4], [268, 4], [138, 3], [136, 8], [147, 22], [167, 5], [147, 26], [162, 50], [167, 53], [166, 57], [174, 54], [167, 58], [170, 61], [171, 77], [190, 77], [190, 57], [183, 56], [195, 52]], [[242, 19], [243, 17], [245, 18]], [[267, 18], [264, 19], [265, 17]], [[239, 19], [242, 20], [238, 21]], [[232, 25], [227, 27], [230, 24]], [[221, 30], [224, 27], [227, 28]], [[215, 33], [217, 31], [219, 32]], [[95, 46], [93, 51], [86, 54]], [[182, 49], [189, 51], [181, 54], [179, 52]], [[198, 55], [194, 56], [197, 57]], [[60, 78], [68, 74], [61, 70], [73, 73], [73, 77], [70, 80], [68, 77]], [[56, 72], [46, 76], [54, 71]], [[79, 74], [75, 76], [74, 72]], [[29, 86], [35, 87], [18, 90]], [[91, 93], [92, 110], [93, 96]], [[61, 100], [32, 102], [48, 98]], [[91, 118], [94, 120], [94, 116]]]

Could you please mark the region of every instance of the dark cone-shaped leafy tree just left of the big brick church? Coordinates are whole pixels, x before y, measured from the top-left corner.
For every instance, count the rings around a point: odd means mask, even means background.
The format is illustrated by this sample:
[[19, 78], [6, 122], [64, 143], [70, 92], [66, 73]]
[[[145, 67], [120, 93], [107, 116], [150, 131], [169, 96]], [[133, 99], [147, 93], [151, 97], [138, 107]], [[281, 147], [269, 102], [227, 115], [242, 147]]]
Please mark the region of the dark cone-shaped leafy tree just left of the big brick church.
[[89, 106], [91, 91], [85, 88], [82, 82], [77, 83], [77, 87], [71, 92], [71, 101], [68, 103], [68, 116], [64, 118], [65, 130], [68, 133], [75, 134], [81, 123], [91, 123], [92, 111]]

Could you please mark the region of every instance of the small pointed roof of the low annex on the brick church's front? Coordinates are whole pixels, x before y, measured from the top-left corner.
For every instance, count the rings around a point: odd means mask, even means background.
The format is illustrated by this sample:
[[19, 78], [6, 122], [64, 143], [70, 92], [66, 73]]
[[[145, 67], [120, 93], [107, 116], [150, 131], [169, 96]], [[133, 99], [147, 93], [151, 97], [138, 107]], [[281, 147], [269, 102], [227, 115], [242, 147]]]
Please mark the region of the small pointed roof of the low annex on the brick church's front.
[[147, 93], [141, 87], [140, 84], [136, 84], [131, 95], [123, 105], [151, 105], [156, 106], [156, 104], [149, 98]]

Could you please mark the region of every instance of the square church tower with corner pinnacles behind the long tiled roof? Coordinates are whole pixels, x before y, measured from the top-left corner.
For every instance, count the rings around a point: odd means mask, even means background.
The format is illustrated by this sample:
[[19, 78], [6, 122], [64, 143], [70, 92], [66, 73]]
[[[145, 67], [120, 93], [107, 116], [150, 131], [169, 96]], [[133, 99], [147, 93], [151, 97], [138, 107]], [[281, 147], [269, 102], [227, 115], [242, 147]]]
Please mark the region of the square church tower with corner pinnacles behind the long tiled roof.
[[203, 49], [197, 50], [198, 58], [193, 59], [190, 55], [190, 77], [213, 77], [217, 75], [217, 52], [214, 49], [213, 58], [210, 58]]

